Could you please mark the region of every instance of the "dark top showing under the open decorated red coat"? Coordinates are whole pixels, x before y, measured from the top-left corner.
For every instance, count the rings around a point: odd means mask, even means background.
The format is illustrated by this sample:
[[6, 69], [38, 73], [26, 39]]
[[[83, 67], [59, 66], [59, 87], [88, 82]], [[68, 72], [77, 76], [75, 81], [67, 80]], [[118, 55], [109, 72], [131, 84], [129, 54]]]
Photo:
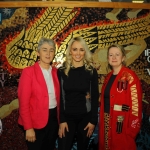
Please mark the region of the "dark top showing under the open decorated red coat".
[[111, 75], [104, 91], [104, 112], [109, 113], [110, 111], [110, 89], [117, 75]]

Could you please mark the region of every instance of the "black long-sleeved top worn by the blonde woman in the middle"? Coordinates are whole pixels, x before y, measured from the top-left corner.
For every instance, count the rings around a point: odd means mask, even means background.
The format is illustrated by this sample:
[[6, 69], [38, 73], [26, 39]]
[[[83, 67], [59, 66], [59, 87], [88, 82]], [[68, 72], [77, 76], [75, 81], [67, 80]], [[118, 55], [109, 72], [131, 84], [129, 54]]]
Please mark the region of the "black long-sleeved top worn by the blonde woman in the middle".
[[[60, 83], [63, 81], [61, 87], [61, 98], [60, 98], [60, 122], [65, 122], [65, 117], [71, 116], [79, 117], [87, 114], [86, 108], [86, 94], [90, 92], [91, 97], [91, 118], [92, 124], [97, 123], [98, 119], [98, 75], [97, 71], [85, 70], [85, 66], [71, 68], [68, 76], [65, 75], [64, 69], [58, 70], [58, 78]], [[61, 81], [62, 79], [62, 81]], [[91, 89], [91, 90], [90, 90]], [[64, 94], [63, 94], [64, 93]], [[63, 103], [63, 95], [65, 104]]]

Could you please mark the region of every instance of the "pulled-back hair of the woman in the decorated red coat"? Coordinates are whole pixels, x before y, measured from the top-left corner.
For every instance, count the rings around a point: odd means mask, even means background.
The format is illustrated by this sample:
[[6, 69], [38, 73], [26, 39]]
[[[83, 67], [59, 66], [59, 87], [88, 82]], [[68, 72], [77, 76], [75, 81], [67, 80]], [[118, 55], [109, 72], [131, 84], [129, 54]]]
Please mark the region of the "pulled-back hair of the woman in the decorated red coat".
[[[107, 58], [108, 58], [108, 55], [109, 55], [109, 50], [110, 50], [112, 47], [118, 48], [118, 49], [121, 51], [122, 56], [123, 56], [123, 57], [126, 57], [126, 52], [125, 52], [125, 49], [124, 49], [123, 46], [121, 46], [121, 45], [119, 45], [119, 44], [112, 44], [111, 46], [108, 47], [108, 50], [107, 50]], [[123, 65], [123, 66], [126, 66], [125, 60], [122, 62], [122, 65]], [[109, 69], [112, 70], [112, 66], [108, 63], [107, 70], [109, 70]]]

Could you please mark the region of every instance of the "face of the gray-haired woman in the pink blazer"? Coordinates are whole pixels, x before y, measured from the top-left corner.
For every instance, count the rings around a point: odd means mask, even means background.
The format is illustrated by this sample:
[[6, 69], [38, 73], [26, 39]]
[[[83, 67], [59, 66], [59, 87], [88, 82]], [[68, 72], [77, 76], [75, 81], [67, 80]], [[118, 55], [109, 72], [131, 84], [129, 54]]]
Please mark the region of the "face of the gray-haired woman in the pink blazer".
[[41, 67], [45, 68], [53, 61], [55, 55], [54, 47], [45, 42], [43, 45], [41, 45], [37, 55], [40, 58]]

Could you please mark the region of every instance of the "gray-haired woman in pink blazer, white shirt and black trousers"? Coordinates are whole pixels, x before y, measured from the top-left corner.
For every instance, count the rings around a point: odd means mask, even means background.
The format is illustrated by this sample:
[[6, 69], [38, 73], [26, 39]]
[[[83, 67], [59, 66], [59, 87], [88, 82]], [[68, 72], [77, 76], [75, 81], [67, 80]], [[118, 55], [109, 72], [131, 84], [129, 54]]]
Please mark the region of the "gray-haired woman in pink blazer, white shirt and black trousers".
[[37, 55], [39, 61], [25, 68], [19, 80], [18, 123], [25, 131], [29, 150], [53, 150], [60, 97], [57, 69], [50, 65], [55, 55], [54, 41], [41, 38]]

